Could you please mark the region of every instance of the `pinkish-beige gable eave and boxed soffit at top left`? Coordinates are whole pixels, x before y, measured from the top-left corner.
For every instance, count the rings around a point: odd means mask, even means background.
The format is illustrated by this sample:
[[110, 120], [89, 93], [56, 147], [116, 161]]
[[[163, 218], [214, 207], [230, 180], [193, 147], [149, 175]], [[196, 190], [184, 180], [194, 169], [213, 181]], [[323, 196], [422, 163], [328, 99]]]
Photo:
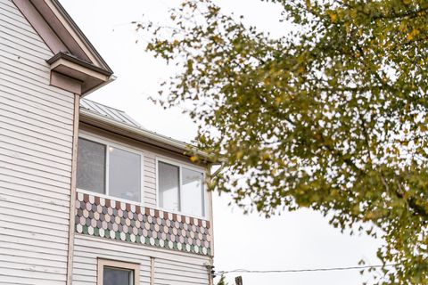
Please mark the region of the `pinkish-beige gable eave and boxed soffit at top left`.
[[51, 85], [84, 95], [114, 79], [110, 67], [58, 0], [12, 1], [54, 54], [46, 59], [51, 65]]

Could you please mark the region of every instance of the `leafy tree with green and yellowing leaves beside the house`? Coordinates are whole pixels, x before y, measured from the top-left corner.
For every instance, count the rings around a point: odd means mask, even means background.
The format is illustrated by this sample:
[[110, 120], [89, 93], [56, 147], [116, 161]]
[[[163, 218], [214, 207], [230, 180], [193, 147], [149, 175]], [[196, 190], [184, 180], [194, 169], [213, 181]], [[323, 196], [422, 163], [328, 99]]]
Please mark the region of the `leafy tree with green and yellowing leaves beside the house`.
[[198, 146], [221, 158], [212, 189], [266, 216], [312, 208], [381, 234], [395, 266], [379, 282], [427, 284], [428, 2], [268, 2], [284, 37], [210, 0], [171, 10], [170, 27], [137, 23], [180, 69], [160, 102], [184, 106]]

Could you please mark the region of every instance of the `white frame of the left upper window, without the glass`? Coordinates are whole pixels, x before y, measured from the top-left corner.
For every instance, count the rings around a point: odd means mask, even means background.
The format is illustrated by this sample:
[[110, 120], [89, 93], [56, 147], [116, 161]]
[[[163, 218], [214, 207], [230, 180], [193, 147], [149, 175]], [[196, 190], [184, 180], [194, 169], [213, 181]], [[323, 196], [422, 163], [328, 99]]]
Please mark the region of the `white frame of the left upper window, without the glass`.
[[[109, 199], [112, 198], [115, 200], [130, 202], [133, 204], [138, 203], [138, 204], [142, 205], [143, 204], [143, 197], [144, 197], [144, 154], [143, 154], [143, 152], [142, 151], [136, 151], [133, 149], [129, 149], [129, 148], [122, 146], [120, 144], [117, 144], [117, 143], [107, 142], [107, 141], [104, 141], [102, 139], [95, 138], [91, 135], [79, 134], [78, 137], [82, 138], [86, 141], [101, 143], [105, 146], [105, 153], [104, 153], [104, 156], [105, 156], [104, 193], [99, 193], [99, 192], [91, 191], [88, 189], [81, 189], [81, 188], [78, 188], [78, 191], [85, 191], [85, 192], [88, 192], [91, 194], [95, 194], [96, 196], [102, 196], [102, 197], [109, 198]], [[140, 200], [139, 201], [122, 199], [119, 197], [111, 196], [110, 187], [109, 187], [110, 186], [110, 154], [109, 154], [109, 152], [110, 152], [109, 148], [110, 147], [118, 149], [120, 151], [128, 151], [131, 153], [135, 153], [135, 154], [140, 156], [140, 181], [139, 181], [139, 183], [140, 183], [140, 192], [139, 192]]]

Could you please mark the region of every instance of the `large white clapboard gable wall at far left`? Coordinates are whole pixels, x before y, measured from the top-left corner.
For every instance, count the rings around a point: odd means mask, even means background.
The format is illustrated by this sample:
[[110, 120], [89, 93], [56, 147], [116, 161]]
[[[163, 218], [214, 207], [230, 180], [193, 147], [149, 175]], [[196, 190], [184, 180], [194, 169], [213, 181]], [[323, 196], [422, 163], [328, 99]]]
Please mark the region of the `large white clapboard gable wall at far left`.
[[0, 0], [0, 282], [65, 284], [74, 95], [49, 85], [53, 53]]

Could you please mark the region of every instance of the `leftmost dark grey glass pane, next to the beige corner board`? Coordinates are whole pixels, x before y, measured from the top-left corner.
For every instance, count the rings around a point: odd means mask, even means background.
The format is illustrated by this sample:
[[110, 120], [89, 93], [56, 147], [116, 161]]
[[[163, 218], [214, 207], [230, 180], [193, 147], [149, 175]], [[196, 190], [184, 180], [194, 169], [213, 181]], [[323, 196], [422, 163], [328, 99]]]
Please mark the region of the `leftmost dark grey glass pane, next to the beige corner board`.
[[105, 193], [105, 145], [78, 138], [79, 189]]

